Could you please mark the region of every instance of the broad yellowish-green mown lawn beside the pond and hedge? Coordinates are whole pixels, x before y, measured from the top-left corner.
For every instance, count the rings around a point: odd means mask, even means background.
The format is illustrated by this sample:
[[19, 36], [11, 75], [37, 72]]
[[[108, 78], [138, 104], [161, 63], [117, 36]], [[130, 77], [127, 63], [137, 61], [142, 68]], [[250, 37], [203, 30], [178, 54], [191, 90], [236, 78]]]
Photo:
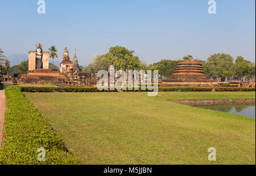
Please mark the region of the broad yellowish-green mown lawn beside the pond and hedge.
[[[168, 99], [255, 92], [24, 93], [82, 164], [255, 164], [255, 119]], [[208, 161], [208, 148], [217, 161]]]

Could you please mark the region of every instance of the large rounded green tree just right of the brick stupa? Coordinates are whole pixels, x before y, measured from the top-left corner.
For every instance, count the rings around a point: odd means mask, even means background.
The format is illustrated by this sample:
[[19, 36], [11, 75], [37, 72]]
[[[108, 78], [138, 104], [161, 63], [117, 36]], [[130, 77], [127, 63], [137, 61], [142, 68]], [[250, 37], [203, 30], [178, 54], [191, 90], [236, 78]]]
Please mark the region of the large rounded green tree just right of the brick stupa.
[[204, 71], [210, 78], [221, 78], [221, 81], [228, 81], [233, 74], [233, 60], [234, 58], [229, 54], [210, 55], [204, 64]]

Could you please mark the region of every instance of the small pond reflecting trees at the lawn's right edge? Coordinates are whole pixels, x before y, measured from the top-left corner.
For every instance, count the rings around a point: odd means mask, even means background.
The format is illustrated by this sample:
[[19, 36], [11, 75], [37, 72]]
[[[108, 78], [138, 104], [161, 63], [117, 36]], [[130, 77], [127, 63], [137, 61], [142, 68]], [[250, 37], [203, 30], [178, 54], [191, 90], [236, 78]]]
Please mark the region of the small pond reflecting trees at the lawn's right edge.
[[255, 105], [214, 105], [214, 106], [199, 106], [199, 107], [255, 118]]

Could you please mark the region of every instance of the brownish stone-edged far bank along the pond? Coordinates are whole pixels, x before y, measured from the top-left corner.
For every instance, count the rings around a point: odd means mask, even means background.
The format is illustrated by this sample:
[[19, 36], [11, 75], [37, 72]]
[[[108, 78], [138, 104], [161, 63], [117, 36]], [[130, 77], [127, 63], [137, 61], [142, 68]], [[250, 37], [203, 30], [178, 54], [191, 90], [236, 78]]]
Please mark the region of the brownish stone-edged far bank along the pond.
[[190, 106], [210, 106], [210, 105], [253, 105], [255, 104], [255, 98], [234, 99], [234, 100], [216, 100], [216, 99], [204, 99], [204, 100], [169, 100], [179, 104]]

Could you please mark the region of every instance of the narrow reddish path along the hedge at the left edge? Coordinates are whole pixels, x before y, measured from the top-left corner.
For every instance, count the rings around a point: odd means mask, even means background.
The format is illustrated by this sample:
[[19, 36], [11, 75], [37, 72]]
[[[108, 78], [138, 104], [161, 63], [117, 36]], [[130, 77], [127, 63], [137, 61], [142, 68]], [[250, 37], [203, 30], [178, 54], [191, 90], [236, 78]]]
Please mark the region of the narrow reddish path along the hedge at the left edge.
[[6, 98], [5, 91], [0, 91], [0, 148], [3, 143], [3, 123], [5, 122]]

